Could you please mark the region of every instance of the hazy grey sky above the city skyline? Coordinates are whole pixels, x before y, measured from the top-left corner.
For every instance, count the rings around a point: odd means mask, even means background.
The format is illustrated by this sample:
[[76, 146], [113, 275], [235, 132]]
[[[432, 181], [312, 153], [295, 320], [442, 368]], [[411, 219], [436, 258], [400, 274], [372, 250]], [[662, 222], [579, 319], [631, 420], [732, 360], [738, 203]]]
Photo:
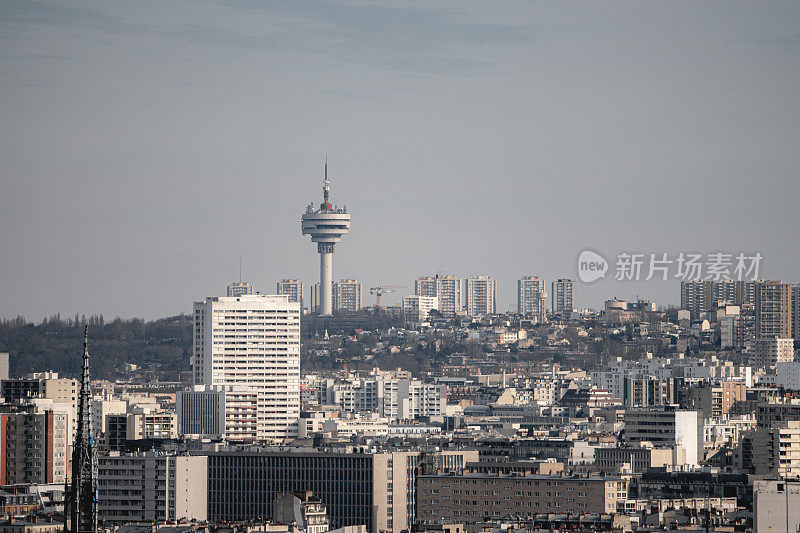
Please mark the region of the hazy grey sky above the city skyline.
[[798, 2], [2, 0], [0, 316], [190, 311], [240, 256], [312, 283], [326, 155], [365, 288], [485, 273], [505, 310], [587, 247], [800, 281], [798, 95]]

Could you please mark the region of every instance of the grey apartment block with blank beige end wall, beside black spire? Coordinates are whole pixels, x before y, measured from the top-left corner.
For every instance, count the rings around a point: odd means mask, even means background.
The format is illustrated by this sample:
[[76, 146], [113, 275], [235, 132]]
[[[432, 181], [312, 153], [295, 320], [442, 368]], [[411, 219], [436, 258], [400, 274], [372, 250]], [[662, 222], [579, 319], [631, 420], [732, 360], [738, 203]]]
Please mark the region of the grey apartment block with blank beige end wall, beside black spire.
[[97, 513], [110, 525], [207, 519], [208, 458], [161, 452], [98, 458]]

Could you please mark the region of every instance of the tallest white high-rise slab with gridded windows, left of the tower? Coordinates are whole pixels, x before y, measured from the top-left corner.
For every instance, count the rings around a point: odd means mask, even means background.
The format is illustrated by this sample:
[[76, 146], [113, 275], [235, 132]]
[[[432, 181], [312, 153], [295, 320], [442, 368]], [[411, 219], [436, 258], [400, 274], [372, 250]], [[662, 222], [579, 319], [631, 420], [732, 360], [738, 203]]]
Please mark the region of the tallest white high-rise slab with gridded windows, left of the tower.
[[194, 304], [194, 383], [257, 393], [258, 439], [296, 434], [300, 417], [300, 304], [277, 295]]

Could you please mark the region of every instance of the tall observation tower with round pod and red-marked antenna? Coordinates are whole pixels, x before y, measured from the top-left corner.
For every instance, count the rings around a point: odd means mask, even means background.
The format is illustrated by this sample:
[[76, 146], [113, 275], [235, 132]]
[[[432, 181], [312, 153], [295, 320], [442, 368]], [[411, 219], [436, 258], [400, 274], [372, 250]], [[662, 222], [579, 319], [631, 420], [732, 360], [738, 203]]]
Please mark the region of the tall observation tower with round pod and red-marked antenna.
[[303, 235], [311, 235], [311, 242], [317, 243], [319, 254], [319, 314], [333, 312], [333, 247], [342, 240], [342, 235], [350, 233], [350, 215], [347, 206], [339, 208], [331, 205], [331, 182], [328, 180], [328, 162], [325, 161], [325, 179], [322, 182], [322, 203], [319, 209], [308, 204], [301, 218]]

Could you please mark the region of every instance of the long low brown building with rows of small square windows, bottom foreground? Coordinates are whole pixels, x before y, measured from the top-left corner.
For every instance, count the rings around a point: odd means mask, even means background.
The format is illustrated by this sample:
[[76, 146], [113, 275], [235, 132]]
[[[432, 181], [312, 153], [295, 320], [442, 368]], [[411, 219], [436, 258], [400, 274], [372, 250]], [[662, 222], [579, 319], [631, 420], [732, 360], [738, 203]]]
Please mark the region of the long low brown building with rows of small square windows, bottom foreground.
[[506, 516], [614, 513], [627, 482], [610, 477], [493, 475], [417, 476], [417, 520], [475, 524]]

